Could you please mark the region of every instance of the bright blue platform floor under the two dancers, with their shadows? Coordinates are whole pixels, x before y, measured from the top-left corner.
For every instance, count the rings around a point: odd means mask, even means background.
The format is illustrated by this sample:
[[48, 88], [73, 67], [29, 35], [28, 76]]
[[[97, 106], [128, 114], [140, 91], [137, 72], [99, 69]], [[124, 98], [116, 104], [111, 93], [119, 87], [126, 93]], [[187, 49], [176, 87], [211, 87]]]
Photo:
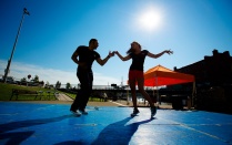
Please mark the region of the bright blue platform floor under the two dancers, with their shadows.
[[68, 104], [0, 102], [0, 144], [8, 145], [228, 145], [232, 115], [149, 107], [88, 106], [74, 116]]

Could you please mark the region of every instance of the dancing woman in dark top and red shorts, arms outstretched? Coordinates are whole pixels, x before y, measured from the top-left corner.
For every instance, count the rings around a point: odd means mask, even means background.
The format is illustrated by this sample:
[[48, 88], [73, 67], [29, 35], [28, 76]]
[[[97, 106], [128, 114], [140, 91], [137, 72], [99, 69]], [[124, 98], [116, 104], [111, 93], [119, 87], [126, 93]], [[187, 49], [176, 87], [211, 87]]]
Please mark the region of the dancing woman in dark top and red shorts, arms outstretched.
[[172, 54], [173, 52], [170, 50], [164, 50], [163, 52], [159, 54], [152, 54], [148, 50], [142, 50], [141, 45], [138, 42], [132, 42], [131, 48], [127, 52], [127, 56], [122, 56], [118, 51], [114, 51], [114, 53], [122, 60], [128, 61], [132, 59], [132, 64], [129, 70], [129, 85], [131, 87], [131, 95], [132, 95], [132, 102], [133, 102], [133, 113], [131, 116], [135, 116], [139, 113], [138, 106], [137, 106], [137, 94], [135, 94], [135, 84], [138, 83], [138, 87], [140, 93], [143, 95], [143, 97], [149, 102], [151, 106], [151, 117], [153, 117], [157, 113], [157, 107], [154, 106], [154, 103], [152, 102], [149, 94], [144, 91], [144, 76], [143, 76], [143, 63], [145, 60], [145, 56], [150, 56], [153, 59], [157, 59], [164, 53]]

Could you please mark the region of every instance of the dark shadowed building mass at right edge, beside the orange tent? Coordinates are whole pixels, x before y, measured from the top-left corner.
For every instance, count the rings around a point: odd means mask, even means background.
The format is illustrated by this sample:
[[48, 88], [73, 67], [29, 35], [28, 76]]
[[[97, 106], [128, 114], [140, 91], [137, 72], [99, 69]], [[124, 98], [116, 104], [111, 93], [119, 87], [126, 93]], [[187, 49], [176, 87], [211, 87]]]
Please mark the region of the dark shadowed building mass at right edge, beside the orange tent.
[[176, 69], [174, 71], [195, 76], [196, 95], [194, 106], [200, 110], [225, 112], [232, 114], [232, 56], [229, 51]]

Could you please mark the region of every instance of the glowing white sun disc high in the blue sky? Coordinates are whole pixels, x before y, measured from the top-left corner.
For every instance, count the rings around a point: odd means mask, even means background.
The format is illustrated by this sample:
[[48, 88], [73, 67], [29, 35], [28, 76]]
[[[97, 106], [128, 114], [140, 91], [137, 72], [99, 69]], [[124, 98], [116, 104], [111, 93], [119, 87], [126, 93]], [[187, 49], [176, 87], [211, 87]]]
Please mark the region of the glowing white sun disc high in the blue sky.
[[161, 27], [162, 17], [159, 11], [155, 11], [154, 8], [144, 10], [139, 15], [139, 25], [142, 30], [152, 31]]

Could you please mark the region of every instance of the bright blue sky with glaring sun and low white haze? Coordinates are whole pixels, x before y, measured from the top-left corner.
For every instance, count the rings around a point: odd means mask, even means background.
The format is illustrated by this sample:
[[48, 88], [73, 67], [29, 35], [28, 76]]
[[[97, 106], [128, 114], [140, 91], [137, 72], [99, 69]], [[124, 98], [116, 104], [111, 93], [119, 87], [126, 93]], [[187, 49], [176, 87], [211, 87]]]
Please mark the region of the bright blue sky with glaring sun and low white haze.
[[[154, 54], [174, 51], [147, 58], [144, 71], [158, 64], [182, 68], [212, 55], [214, 49], [232, 53], [231, 0], [0, 0], [1, 75], [24, 7], [30, 15], [24, 17], [9, 74], [16, 79], [31, 74], [50, 84], [78, 84], [71, 55], [91, 38], [99, 40], [102, 59], [114, 50], [127, 55], [132, 41]], [[125, 84], [130, 64], [118, 56], [104, 66], [94, 62], [93, 83]]]

